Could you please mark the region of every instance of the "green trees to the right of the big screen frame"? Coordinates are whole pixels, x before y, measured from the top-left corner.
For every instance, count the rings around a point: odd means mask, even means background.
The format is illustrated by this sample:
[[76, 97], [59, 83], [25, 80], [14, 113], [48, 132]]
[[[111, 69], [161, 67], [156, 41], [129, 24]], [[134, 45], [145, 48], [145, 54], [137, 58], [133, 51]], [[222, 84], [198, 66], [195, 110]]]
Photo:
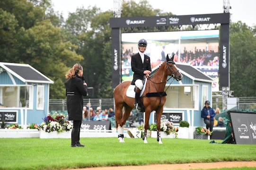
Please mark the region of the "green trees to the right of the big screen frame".
[[236, 97], [256, 96], [256, 32], [238, 21], [230, 25], [230, 90]]

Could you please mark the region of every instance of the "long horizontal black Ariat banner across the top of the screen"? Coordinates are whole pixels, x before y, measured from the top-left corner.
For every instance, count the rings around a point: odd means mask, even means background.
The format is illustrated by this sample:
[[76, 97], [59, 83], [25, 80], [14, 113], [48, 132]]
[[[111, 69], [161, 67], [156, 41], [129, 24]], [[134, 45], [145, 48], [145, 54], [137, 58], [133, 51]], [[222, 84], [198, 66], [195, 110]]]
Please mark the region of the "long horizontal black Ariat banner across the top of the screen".
[[173, 26], [195, 24], [229, 24], [230, 14], [201, 14], [185, 16], [158, 16], [158, 17], [121, 17], [110, 18], [111, 28], [144, 27], [144, 26]]

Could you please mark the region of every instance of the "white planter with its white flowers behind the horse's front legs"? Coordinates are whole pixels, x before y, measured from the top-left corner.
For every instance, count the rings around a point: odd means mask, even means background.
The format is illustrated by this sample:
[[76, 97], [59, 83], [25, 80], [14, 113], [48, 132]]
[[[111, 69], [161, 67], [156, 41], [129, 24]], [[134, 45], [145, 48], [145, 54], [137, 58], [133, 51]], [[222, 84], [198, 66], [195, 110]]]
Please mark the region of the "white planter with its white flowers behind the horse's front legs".
[[[157, 137], [157, 124], [150, 125], [151, 137]], [[174, 127], [173, 122], [168, 121], [167, 119], [161, 120], [160, 124], [160, 133], [161, 137], [165, 138], [177, 138], [178, 127]]]

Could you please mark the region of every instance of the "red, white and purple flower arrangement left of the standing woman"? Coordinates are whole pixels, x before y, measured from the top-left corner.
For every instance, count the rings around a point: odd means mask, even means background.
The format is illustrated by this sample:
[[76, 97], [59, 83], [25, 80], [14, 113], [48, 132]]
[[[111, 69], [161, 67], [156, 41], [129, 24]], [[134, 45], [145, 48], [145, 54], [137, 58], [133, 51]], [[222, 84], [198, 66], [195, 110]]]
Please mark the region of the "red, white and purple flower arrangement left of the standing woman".
[[64, 132], [69, 131], [73, 127], [73, 123], [66, 120], [63, 115], [57, 114], [55, 119], [52, 116], [46, 116], [44, 119], [44, 122], [41, 123], [41, 125], [38, 126], [38, 130], [44, 130], [45, 132], [53, 132], [57, 131]]

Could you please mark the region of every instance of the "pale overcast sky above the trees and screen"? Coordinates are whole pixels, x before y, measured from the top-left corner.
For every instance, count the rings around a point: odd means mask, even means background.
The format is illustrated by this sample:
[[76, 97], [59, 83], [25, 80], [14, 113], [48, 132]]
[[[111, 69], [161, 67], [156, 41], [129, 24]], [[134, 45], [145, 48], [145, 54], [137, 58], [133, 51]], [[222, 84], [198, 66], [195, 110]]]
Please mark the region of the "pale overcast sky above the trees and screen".
[[[140, 0], [135, 0], [137, 3]], [[223, 0], [148, 0], [153, 8], [175, 15], [223, 13]], [[55, 11], [64, 18], [78, 7], [97, 6], [102, 11], [113, 10], [114, 0], [52, 0]], [[248, 26], [256, 26], [256, 0], [230, 0], [231, 22], [238, 20]], [[122, 16], [121, 16], [122, 17]]]

